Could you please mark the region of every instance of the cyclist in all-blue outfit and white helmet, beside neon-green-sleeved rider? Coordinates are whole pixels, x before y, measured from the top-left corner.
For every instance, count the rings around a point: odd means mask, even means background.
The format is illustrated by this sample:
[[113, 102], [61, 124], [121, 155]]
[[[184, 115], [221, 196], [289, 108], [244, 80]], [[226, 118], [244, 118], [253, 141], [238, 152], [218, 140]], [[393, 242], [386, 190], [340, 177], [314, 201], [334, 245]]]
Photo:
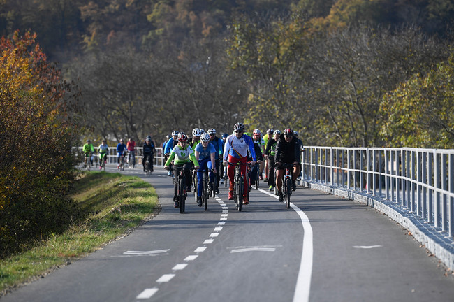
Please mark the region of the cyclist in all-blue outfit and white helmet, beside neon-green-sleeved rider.
[[[210, 130], [209, 130], [210, 131]], [[210, 172], [210, 189], [213, 189], [214, 175], [216, 174], [216, 148], [210, 143], [210, 135], [204, 133], [200, 136], [200, 143], [196, 145], [194, 149], [198, 166], [200, 167], [197, 171], [197, 203], [198, 206], [202, 206], [202, 188], [203, 188], [203, 170], [213, 169]]]

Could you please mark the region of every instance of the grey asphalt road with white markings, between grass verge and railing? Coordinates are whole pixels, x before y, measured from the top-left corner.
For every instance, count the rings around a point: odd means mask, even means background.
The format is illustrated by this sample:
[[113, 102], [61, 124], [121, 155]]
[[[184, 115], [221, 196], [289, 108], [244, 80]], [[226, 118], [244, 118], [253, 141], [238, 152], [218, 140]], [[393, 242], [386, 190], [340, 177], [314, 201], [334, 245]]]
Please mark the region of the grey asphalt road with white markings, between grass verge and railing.
[[221, 187], [206, 212], [189, 197], [180, 214], [156, 170], [132, 174], [155, 187], [159, 215], [1, 300], [454, 301], [454, 277], [368, 206], [298, 188], [286, 209], [261, 182], [242, 212]]

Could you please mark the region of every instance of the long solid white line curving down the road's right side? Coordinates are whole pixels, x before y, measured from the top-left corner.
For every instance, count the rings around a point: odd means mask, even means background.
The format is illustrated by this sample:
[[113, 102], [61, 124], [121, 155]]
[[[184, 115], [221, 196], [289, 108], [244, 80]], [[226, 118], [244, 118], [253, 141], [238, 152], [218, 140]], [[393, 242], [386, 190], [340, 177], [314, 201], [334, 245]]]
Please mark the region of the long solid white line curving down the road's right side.
[[[278, 196], [258, 189], [259, 191], [273, 196], [275, 199], [279, 199]], [[290, 206], [300, 216], [302, 222], [302, 229], [304, 230], [304, 236], [302, 238], [302, 254], [300, 271], [298, 272], [298, 278], [296, 280], [295, 294], [293, 294], [293, 302], [307, 302], [309, 301], [309, 291], [311, 289], [311, 278], [312, 278], [312, 261], [314, 258], [314, 245], [313, 245], [313, 233], [312, 226], [307, 218], [306, 214], [293, 203]]]

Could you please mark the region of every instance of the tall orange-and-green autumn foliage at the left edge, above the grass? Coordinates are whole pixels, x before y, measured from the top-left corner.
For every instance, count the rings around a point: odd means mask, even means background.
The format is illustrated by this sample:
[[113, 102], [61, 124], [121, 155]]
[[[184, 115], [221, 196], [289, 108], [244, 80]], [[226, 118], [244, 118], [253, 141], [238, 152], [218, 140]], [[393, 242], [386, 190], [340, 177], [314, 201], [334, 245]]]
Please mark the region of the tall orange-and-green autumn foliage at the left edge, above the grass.
[[0, 255], [63, 229], [78, 140], [75, 94], [36, 34], [0, 40]]

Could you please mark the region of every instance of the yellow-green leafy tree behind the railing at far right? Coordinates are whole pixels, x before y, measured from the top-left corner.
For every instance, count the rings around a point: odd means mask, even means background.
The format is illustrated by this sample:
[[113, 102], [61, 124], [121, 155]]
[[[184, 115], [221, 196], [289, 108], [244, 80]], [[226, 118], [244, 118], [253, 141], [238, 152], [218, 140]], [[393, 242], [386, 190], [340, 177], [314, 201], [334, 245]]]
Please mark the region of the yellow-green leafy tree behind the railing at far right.
[[428, 73], [416, 73], [386, 94], [381, 136], [387, 145], [454, 148], [454, 56]]

